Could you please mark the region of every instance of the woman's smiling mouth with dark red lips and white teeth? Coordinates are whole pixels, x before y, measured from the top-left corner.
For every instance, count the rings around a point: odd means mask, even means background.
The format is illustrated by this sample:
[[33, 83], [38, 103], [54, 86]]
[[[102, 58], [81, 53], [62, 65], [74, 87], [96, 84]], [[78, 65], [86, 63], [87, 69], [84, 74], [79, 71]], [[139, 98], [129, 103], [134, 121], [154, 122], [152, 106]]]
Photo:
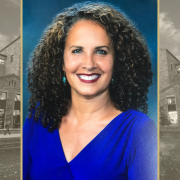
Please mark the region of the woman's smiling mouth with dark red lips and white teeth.
[[80, 81], [84, 83], [93, 83], [96, 82], [101, 75], [100, 74], [77, 74], [77, 77], [80, 79]]

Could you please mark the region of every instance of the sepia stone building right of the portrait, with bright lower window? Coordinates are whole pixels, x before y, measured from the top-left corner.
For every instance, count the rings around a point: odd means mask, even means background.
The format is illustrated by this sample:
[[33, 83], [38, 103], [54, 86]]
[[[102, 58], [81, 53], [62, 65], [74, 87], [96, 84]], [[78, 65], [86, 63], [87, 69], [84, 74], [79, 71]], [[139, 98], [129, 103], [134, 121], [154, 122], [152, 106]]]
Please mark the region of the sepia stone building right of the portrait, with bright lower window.
[[180, 61], [167, 49], [160, 49], [159, 66], [160, 107], [170, 127], [180, 129]]

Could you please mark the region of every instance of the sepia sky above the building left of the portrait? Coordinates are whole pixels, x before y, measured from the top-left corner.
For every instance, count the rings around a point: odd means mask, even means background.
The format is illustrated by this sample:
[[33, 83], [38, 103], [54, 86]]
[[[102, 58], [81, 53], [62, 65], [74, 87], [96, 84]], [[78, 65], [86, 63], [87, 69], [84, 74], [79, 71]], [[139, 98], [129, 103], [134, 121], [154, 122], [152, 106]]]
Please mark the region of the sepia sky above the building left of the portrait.
[[20, 0], [0, 2], [0, 50], [20, 36]]

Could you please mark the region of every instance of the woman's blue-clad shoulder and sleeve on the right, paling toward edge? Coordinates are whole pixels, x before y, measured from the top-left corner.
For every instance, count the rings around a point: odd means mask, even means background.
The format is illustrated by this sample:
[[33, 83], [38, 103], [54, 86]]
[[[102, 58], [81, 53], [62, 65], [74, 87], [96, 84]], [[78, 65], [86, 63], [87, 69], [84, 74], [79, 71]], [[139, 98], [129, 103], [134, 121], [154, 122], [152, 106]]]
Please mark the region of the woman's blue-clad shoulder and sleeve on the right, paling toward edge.
[[[155, 179], [157, 177], [157, 126], [140, 111], [129, 110], [128, 114], [132, 119], [126, 148], [129, 153], [129, 177]], [[137, 174], [138, 176], [135, 176]]]

